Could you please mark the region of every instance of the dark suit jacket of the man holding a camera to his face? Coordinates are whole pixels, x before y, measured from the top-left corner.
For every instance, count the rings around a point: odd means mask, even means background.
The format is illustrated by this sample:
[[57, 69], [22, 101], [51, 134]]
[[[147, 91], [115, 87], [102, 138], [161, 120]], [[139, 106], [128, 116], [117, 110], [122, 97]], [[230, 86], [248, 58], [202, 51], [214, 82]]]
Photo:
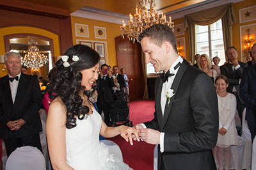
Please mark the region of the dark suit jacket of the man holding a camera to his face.
[[106, 76], [106, 79], [101, 79], [100, 75], [98, 78], [98, 82], [99, 84], [97, 84], [97, 86], [99, 86], [99, 96], [98, 96], [98, 102], [106, 102], [106, 103], [110, 103], [113, 101], [112, 98], [112, 89], [115, 84], [113, 81], [113, 77], [109, 78], [109, 76]]

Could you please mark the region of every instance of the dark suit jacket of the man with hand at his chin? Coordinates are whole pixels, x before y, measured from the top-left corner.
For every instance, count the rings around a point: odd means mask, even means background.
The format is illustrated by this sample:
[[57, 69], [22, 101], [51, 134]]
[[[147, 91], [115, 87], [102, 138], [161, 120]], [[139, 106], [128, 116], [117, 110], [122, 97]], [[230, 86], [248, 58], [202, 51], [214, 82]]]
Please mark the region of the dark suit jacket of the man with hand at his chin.
[[[225, 75], [228, 78], [228, 84], [229, 84], [227, 88], [228, 93], [232, 93], [232, 90], [235, 86], [237, 94], [239, 95], [239, 91], [240, 91], [239, 79], [242, 79], [243, 68], [245, 68], [247, 65], [246, 63], [243, 63], [241, 61], [238, 61], [238, 63], [240, 65], [240, 68], [238, 68], [237, 70], [233, 71], [232, 66], [230, 66], [230, 63], [227, 63], [223, 66], [220, 66], [220, 72], [221, 74]], [[243, 102], [243, 100], [241, 100], [241, 102]]]

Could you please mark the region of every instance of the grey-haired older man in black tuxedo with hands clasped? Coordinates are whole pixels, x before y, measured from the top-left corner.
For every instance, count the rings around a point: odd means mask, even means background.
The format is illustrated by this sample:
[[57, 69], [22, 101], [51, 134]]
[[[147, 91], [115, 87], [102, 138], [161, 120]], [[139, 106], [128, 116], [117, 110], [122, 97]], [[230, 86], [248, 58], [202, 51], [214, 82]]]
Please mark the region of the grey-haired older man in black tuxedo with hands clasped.
[[0, 138], [9, 156], [21, 146], [42, 151], [39, 133], [42, 124], [39, 109], [42, 95], [36, 77], [21, 72], [20, 54], [6, 52], [4, 63], [8, 75], [0, 79]]

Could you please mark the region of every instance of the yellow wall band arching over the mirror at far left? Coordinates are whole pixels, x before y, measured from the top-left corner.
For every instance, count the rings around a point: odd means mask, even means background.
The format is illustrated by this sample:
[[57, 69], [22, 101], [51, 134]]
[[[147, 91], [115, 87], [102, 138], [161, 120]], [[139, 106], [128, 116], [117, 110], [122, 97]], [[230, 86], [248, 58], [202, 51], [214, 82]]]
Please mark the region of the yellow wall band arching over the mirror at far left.
[[[44, 29], [39, 29], [36, 27], [24, 27], [24, 26], [15, 26], [15, 27], [3, 27], [0, 28], [0, 55], [4, 55], [5, 46], [4, 46], [4, 36], [5, 35], [11, 35], [11, 34], [19, 34], [19, 33], [29, 33], [29, 34], [35, 34], [35, 35], [42, 35], [47, 36], [52, 39], [53, 41], [53, 47], [54, 47], [54, 55], [60, 56], [60, 42], [58, 35], [55, 35], [54, 33], [51, 33], [49, 31], [45, 31]], [[2, 72], [2, 69], [0, 70], [0, 77], [3, 77], [4, 75], [7, 75], [6, 72]]]

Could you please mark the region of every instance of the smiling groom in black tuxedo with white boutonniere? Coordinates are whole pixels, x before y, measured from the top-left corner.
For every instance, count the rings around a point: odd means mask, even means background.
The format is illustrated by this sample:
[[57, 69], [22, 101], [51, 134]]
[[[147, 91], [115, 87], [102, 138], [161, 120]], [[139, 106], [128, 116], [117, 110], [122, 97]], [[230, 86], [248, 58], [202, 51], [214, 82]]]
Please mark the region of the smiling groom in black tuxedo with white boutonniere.
[[134, 127], [143, 141], [159, 144], [158, 169], [216, 169], [218, 100], [210, 77], [178, 55], [170, 27], [153, 25], [138, 39], [146, 63], [164, 72], [156, 80], [154, 119]]

